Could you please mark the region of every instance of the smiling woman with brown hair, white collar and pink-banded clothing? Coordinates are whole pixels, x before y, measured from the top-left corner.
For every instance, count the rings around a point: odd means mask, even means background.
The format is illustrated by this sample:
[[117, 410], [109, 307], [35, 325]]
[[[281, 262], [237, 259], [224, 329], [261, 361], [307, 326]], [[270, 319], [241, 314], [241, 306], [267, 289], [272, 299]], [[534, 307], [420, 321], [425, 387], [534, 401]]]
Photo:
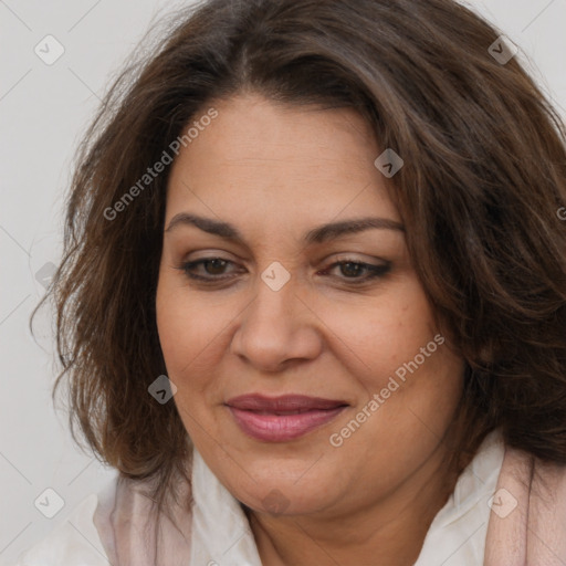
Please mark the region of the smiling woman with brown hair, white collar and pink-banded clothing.
[[452, 0], [191, 11], [90, 130], [52, 290], [119, 479], [21, 564], [566, 563], [563, 134]]

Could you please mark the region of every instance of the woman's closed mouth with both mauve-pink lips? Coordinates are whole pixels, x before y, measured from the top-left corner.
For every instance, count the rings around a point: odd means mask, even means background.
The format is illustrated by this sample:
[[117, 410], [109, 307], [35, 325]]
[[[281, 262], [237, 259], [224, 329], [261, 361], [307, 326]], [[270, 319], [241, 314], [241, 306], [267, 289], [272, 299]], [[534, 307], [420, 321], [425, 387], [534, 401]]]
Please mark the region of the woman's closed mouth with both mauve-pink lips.
[[244, 395], [226, 402], [242, 432], [263, 442], [286, 442], [334, 420], [348, 403], [303, 395]]

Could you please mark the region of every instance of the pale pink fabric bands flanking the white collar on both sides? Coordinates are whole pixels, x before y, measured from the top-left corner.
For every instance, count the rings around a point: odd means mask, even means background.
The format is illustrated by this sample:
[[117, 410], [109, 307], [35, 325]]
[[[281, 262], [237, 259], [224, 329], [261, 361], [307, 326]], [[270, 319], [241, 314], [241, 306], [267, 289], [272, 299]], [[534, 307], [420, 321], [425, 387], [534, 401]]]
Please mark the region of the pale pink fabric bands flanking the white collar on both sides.
[[[119, 484], [116, 501], [103, 501], [95, 514], [112, 564], [187, 566], [191, 515], [174, 510], [187, 536], [164, 518], [163, 549], [155, 558], [151, 502], [136, 485], [136, 482]], [[111, 505], [114, 506], [112, 516], [108, 515]], [[106, 520], [102, 518], [104, 516]], [[483, 566], [566, 566], [566, 467], [546, 464], [525, 452], [505, 448], [488, 525]]]

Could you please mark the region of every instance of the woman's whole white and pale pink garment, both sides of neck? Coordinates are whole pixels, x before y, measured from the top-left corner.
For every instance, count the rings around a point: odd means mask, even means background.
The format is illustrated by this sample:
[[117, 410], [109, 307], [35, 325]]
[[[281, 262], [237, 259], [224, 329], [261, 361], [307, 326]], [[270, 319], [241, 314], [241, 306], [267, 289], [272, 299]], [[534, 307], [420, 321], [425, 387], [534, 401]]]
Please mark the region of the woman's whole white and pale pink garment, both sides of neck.
[[[483, 555], [484, 566], [566, 566], [566, 467], [545, 464], [493, 440], [437, 515], [420, 566], [481, 566]], [[261, 566], [238, 501], [201, 460], [192, 472], [192, 495], [200, 505], [192, 513], [172, 509], [180, 530], [163, 517], [157, 533], [148, 483], [122, 480], [88, 496], [18, 566]], [[188, 501], [189, 486], [181, 482], [179, 490], [180, 500]], [[475, 524], [484, 525], [486, 534], [475, 532]], [[470, 530], [475, 536], [465, 541]], [[460, 554], [438, 559], [454, 545], [461, 546]], [[470, 552], [462, 552], [470, 545]]]

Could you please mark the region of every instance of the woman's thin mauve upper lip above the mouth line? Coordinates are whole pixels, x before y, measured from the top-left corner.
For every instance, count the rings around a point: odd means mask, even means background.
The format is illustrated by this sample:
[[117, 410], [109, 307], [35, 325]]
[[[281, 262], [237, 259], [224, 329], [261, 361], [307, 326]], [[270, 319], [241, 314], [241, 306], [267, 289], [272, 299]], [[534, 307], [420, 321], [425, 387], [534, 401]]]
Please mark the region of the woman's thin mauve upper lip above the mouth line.
[[241, 395], [229, 399], [226, 405], [234, 409], [249, 411], [296, 411], [296, 410], [323, 410], [344, 407], [346, 401], [336, 399], [323, 399], [306, 395], [282, 395], [280, 397], [266, 397], [260, 394]]

